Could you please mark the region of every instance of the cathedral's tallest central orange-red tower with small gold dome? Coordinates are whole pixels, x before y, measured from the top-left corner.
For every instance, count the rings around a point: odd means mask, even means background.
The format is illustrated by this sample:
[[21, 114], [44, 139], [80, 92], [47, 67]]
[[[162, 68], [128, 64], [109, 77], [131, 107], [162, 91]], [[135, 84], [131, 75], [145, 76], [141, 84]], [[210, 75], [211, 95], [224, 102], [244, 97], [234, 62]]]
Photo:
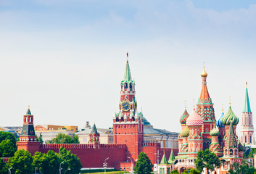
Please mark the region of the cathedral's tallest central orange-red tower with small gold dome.
[[202, 117], [204, 124], [202, 125], [202, 136], [204, 139], [203, 149], [209, 148], [211, 144], [210, 130], [215, 127], [215, 113], [213, 108], [212, 99], [208, 93], [206, 86], [207, 73], [204, 70], [201, 74], [202, 77], [202, 90], [197, 103], [197, 113]]

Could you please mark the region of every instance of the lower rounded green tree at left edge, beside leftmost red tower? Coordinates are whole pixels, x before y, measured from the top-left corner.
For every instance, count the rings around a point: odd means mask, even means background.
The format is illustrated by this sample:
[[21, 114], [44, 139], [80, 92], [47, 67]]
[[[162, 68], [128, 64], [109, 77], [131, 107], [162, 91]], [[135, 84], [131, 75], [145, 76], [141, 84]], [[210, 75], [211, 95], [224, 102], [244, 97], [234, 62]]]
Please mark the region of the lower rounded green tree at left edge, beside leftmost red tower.
[[1, 157], [13, 157], [17, 151], [17, 146], [14, 146], [12, 141], [5, 139], [0, 143]]

